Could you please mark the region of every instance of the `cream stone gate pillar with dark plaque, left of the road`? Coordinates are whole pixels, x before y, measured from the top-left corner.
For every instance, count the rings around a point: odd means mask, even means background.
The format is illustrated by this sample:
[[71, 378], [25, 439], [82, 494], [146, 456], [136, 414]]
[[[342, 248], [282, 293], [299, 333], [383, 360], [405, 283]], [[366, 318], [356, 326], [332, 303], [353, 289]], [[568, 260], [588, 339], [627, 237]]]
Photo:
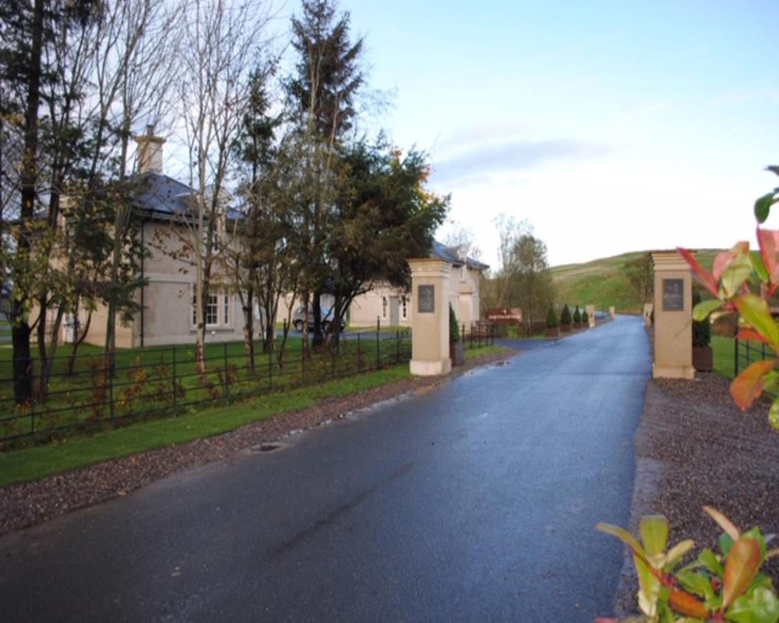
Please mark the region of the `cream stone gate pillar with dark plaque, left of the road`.
[[449, 272], [441, 259], [410, 259], [411, 374], [445, 375], [449, 359]]

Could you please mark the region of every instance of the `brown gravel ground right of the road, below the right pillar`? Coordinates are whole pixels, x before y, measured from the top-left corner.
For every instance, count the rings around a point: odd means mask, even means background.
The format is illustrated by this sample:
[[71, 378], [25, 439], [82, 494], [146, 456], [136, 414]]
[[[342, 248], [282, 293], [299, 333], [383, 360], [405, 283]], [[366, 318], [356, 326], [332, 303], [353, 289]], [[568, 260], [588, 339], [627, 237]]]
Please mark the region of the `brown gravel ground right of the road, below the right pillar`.
[[[701, 507], [711, 505], [746, 530], [779, 533], [779, 433], [767, 421], [767, 403], [743, 413], [728, 381], [698, 374], [694, 382], [650, 381], [636, 431], [636, 483], [630, 528], [642, 515], [660, 513], [671, 524], [670, 541], [715, 547], [720, 530]], [[716, 548], [716, 547], [715, 547]], [[615, 613], [636, 609], [637, 583], [626, 555]], [[779, 561], [767, 570], [779, 586]]]

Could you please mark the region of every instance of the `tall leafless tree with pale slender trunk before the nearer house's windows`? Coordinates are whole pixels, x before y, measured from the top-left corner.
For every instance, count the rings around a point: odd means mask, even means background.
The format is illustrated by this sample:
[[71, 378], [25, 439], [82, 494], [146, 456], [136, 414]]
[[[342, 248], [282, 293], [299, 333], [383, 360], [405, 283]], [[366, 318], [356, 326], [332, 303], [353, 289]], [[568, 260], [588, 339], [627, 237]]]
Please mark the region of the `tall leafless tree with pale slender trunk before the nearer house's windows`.
[[229, 202], [232, 146], [248, 102], [249, 71], [258, 65], [270, 19], [260, 0], [195, 0], [182, 19], [180, 115], [189, 153], [188, 209], [171, 234], [194, 267], [196, 361], [205, 373], [206, 308]]

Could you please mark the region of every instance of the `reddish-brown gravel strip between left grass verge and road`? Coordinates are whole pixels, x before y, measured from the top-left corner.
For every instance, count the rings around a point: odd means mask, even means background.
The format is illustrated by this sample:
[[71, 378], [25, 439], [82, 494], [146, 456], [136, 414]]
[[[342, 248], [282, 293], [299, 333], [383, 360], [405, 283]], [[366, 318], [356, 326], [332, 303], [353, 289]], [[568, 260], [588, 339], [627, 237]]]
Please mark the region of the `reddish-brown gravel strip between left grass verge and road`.
[[[478, 357], [456, 368], [453, 375], [480, 365], [506, 361], [511, 354]], [[293, 431], [330, 424], [351, 411], [440, 385], [451, 377], [409, 378], [344, 399], [329, 399], [316, 407], [280, 414], [222, 435], [97, 463], [33, 482], [0, 487], [0, 535], [127, 495], [175, 471], [224, 459], [233, 452], [276, 441]]]

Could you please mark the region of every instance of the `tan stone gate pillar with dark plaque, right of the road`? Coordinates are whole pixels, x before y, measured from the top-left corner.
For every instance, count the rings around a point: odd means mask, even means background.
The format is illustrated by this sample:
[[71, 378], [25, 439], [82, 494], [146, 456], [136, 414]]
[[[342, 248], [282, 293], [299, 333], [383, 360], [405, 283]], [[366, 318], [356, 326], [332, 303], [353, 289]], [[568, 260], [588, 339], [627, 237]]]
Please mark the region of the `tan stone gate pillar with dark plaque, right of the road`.
[[693, 275], [676, 251], [652, 253], [654, 262], [653, 378], [694, 378]]

